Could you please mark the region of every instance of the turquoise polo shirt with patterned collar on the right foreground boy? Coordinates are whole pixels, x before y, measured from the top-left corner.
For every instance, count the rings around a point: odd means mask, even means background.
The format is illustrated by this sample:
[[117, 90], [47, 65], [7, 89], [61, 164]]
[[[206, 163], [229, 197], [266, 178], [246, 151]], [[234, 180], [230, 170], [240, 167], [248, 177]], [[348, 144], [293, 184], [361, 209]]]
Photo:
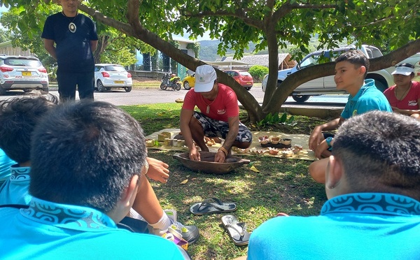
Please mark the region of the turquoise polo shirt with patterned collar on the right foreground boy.
[[316, 217], [274, 217], [251, 234], [248, 259], [419, 259], [420, 202], [358, 193], [328, 200]]

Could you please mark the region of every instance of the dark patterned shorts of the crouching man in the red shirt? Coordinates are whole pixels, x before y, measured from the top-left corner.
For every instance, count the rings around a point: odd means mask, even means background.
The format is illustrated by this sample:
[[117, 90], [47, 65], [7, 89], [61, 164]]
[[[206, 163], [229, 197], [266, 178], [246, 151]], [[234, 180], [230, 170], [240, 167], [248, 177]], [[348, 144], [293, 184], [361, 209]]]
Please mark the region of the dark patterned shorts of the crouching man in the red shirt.
[[[204, 136], [207, 137], [221, 137], [223, 139], [226, 139], [226, 136], [229, 132], [229, 123], [220, 121], [220, 120], [214, 120], [210, 117], [207, 117], [207, 115], [203, 115], [200, 112], [194, 111], [194, 115], [198, 121], [202, 124], [202, 128], [204, 130]], [[244, 124], [239, 122], [239, 131], [237, 138], [235, 139], [239, 141], [240, 143], [251, 143], [252, 142], [252, 133], [249, 131], [248, 127], [246, 127]]]

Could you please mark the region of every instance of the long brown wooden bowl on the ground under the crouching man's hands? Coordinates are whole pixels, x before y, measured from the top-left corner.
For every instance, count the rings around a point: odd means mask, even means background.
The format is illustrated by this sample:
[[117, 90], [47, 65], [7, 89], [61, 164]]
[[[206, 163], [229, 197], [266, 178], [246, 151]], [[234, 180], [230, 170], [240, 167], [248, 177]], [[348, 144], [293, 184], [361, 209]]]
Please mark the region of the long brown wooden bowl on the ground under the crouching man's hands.
[[242, 159], [228, 154], [224, 163], [214, 162], [216, 152], [200, 152], [201, 161], [190, 160], [190, 153], [174, 154], [174, 158], [193, 171], [202, 173], [225, 174], [230, 173], [244, 164], [249, 164], [249, 160]]

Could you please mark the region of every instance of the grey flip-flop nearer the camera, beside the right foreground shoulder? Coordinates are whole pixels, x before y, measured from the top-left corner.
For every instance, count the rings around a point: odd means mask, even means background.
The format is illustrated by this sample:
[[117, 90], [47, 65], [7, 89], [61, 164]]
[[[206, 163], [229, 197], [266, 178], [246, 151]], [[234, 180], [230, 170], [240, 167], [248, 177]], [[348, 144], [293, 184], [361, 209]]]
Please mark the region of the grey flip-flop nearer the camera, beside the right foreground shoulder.
[[226, 215], [222, 217], [222, 223], [235, 245], [248, 245], [251, 234], [246, 231], [245, 222], [238, 222], [235, 216]]

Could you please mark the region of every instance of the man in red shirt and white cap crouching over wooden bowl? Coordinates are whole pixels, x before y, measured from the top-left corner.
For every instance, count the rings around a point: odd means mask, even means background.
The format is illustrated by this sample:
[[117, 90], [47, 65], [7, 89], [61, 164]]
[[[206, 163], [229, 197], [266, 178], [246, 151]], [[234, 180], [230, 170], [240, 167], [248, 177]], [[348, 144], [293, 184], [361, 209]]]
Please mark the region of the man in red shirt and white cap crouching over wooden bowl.
[[[201, 113], [194, 111], [195, 106]], [[217, 82], [216, 71], [210, 65], [198, 66], [195, 71], [195, 87], [186, 94], [181, 109], [181, 132], [190, 150], [190, 159], [200, 161], [200, 152], [209, 151], [204, 136], [225, 139], [214, 161], [224, 162], [232, 146], [248, 148], [252, 133], [239, 122], [239, 106], [235, 92]]]

